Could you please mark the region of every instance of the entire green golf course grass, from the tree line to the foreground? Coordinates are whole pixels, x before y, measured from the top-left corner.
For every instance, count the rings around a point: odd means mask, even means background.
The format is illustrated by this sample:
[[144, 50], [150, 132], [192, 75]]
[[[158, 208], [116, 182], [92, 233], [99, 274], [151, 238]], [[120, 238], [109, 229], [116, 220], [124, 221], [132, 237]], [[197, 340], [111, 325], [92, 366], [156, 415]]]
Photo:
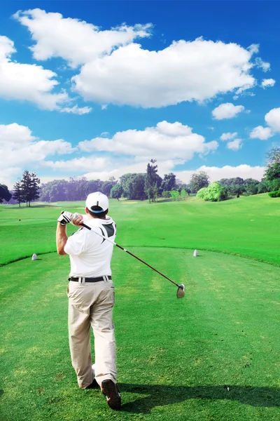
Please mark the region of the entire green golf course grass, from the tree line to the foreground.
[[0, 269], [1, 421], [279, 421], [279, 199], [111, 201], [117, 242], [186, 285], [177, 300], [176, 286], [114, 250], [118, 413], [78, 389], [71, 367], [69, 258], [52, 253], [62, 208], [83, 203], [1, 207], [1, 262], [28, 256]]

